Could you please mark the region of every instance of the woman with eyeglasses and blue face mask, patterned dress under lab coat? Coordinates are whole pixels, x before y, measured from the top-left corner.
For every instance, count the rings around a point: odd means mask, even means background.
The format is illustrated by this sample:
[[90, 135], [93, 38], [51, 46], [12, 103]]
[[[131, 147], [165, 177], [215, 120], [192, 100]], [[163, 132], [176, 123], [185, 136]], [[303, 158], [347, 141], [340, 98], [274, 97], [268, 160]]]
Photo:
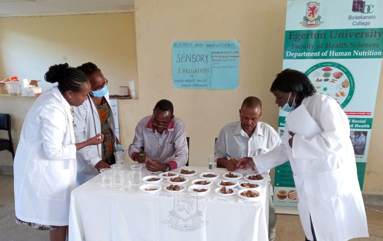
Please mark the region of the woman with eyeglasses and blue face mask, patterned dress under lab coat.
[[94, 133], [104, 134], [100, 145], [82, 148], [77, 151], [77, 186], [96, 176], [100, 169], [115, 164], [116, 138], [115, 122], [110, 107], [108, 80], [97, 65], [88, 62], [77, 67], [87, 75], [91, 88], [89, 98], [74, 109], [76, 140], [87, 140]]

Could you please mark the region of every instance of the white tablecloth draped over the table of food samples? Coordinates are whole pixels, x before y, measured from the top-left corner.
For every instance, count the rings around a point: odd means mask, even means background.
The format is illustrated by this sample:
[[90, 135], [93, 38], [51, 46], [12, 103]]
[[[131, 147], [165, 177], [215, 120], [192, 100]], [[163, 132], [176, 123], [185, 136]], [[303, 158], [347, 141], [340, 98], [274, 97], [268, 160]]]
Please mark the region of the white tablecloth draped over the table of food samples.
[[[130, 169], [131, 163], [125, 163], [124, 169]], [[185, 168], [185, 167], [183, 167]], [[198, 171], [184, 184], [191, 186], [191, 181], [199, 179], [200, 173], [207, 168], [187, 167]], [[178, 172], [180, 169], [173, 170]], [[223, 174], [226, 169], [216, 169]], [[242, 174], [250, 171], [238, 170]], [[160, 175], [160, 173], [156, 173]], [[252, 174], [252, 173], [251, 173]], [[142, 177], [152, 175], [145, 166], [142, 168]], [[202, 216], [188, 221], [191, 226], [188, 231], [179, 231], [171, 228], [170, 215], [175, 207], [173, 197], [161, 197], [158, 194], [169, 194], [164, 187], [169, 183], [164, 179], [159, 184], [162, 190], [156, 194], [146, 194], [138, 190], [141, 184], [132, 184], [131, 191], [123, 191], [112, 187], [105, 189], [101, 186], [101, 175], [94, 177], [82, 186], [72, 191], [69, 215], [69, 240], [70, 241], [129, 241], [129, 240], [259, 240], [267, 241], [268, 223], [268, 195], [267, 173], [262, 181], [257, 204], [238, 203], [237, 194], [224, 197], [229, 202], [211, 200], [221, 197], [215, 194], [217, 182], [224, 180], [222, 175], [213, 181], [210, 192], [204, 199], [196, 200], [196, 205], [191, 207], [192, 214], [195, 209]], [[245, 182], [242, 178], [240, 183]], [[240, 190], [239, 187], [236, 189]], [[181, 192], [183, 194], [185, 192]], [[178, 198], [178, 197], [177, 197]], [[195, 199], [194, 199], [195, 200]], [[194, 209], [195, 208], [195, 209]], [[170, 216], [170, 217], [169, 217]], [[176, 219], [177, 220], [177, 219]], [[193, 222], [194, 220], [194, 222]], [[174, 226], [173, 226], [174, 227]]]

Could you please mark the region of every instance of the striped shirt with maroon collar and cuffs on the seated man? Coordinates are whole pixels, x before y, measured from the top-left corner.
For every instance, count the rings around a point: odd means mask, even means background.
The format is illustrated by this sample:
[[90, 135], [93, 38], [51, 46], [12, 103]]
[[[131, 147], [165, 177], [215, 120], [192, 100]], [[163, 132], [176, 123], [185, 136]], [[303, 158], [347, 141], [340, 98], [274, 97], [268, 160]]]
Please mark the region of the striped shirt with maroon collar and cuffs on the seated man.
[[188, 161], [188, 145], [183, 121], [174, 117], [167, 129], [159, 134], [152, 124], [152, 116], [146, 116], [136, 126], [133, 143], [129, 145], [129, 156], [145, 151], [151, 160], [168, 163], [170, 169], [185, 166]]

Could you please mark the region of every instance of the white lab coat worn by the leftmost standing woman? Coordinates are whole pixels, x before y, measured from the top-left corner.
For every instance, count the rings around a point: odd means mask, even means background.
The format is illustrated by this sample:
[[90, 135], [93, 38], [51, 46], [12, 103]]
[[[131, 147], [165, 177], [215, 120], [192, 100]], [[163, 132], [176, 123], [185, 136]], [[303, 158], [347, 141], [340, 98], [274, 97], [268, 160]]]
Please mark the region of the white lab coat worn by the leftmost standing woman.
[[36, 99], [21, 129], [13, 164], [18, 219], [68, 225], [76, 180], [74, 144], [70, 105], [55, 86]]

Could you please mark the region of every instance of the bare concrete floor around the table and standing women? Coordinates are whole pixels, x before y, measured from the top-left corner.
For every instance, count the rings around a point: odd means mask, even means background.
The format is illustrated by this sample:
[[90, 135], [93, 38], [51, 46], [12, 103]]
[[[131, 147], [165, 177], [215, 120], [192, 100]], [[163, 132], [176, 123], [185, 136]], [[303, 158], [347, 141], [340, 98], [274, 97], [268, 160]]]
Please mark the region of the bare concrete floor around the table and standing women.
[[[0, 175], [0, 241], [45, 241], [48, 231], [38, 231], [15, 222], [13, 176]], [[366, 207], [370, 238], [352, 241], [383, 241], [383, 207]], [[276, 241], [304, 240], [303, 229], [297, 215], [278, 215]]]

